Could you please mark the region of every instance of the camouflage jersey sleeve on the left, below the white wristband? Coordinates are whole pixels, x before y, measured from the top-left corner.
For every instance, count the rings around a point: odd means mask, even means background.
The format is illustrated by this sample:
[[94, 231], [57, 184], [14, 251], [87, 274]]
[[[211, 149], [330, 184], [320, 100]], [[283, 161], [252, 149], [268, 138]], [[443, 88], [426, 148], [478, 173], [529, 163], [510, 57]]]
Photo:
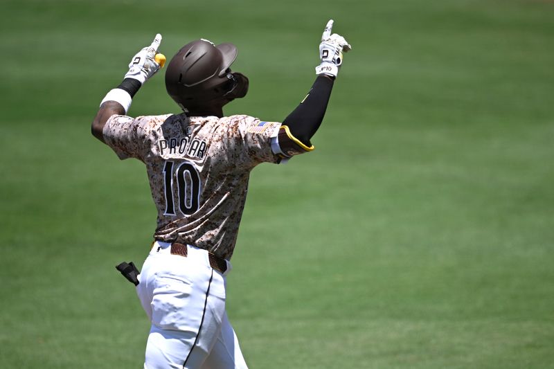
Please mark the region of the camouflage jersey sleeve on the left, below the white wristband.
[[136, 158], [142, 160], [148, 151], [148, 136], [152, 130], [148, 117], [111, 116], [102, 134], [105, 143], [119, 159]]

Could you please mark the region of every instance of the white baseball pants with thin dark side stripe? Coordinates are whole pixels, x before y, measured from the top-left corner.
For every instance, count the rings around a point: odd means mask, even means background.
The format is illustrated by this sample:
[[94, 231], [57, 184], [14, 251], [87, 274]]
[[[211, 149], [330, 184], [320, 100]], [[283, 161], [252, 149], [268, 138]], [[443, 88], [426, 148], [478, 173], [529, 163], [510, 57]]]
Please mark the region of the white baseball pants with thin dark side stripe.
[[205, 250], [188, 246], [172, 255], [154, 242], [136, 287], [152, 322], [145, 369], [247, 369], [225, 312], [226, 274], [210, 266]]

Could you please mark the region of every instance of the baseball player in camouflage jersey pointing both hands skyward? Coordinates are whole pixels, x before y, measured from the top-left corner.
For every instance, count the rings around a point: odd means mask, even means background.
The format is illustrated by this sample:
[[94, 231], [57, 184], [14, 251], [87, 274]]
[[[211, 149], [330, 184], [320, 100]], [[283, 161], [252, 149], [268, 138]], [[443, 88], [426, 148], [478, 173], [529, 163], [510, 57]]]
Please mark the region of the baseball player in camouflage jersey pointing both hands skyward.
[[140, 275], [134, 265], [121, 268], [152, 323], [144, 368], [247, 368], [225, 312], [225, 288], [249, 174], [259, 163], [314, 150], [310, 138], [350, 50], [332, 24], [321, 38], [312, 89], [282, 123], [224, 116], [224, 105], [247, 94], [248, 78], [231, 71], [233, 44], [206, 39], [186, 44], [167, 66], [166, 89], [183, 113], [127, 116], [134, 94], [164, 62], [159, 34], [100, 103], [92, 134], [120, 159], [145, 164], [158, 211]]

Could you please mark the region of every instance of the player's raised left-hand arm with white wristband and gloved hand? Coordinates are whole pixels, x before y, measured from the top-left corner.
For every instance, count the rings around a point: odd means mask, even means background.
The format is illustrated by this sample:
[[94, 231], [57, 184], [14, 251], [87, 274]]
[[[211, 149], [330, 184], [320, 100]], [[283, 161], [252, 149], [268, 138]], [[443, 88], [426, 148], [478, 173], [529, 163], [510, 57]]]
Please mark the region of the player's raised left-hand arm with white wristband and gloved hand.
[[166, 57], [157, 53], [160, 43], [161, 35], [158, 33], [150, 46], [134, 55], [123, 82], [100, 102], [100, 109], [91, 125], [91, 132], [98, 140], [105, 142], [102, 132], [109, 117], [127, 114], [136, 91], [166, 62]]

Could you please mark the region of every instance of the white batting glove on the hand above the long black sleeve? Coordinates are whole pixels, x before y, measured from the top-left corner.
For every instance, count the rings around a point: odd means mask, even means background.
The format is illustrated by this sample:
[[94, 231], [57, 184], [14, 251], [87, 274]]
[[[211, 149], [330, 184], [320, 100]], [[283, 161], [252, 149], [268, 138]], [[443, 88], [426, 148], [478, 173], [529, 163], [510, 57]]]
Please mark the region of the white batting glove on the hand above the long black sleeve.
[[319, 44], [319, 58], [321, 64], [316, 66], [316, 74], [326, 74], [337, 77], [339, 66], [342, 64], [342, 53], [352, 50], [346, 39], [337, 33], [331, 35], [333, 20], [327, 22], [323, 35], [321, 35], [321, 44]]

